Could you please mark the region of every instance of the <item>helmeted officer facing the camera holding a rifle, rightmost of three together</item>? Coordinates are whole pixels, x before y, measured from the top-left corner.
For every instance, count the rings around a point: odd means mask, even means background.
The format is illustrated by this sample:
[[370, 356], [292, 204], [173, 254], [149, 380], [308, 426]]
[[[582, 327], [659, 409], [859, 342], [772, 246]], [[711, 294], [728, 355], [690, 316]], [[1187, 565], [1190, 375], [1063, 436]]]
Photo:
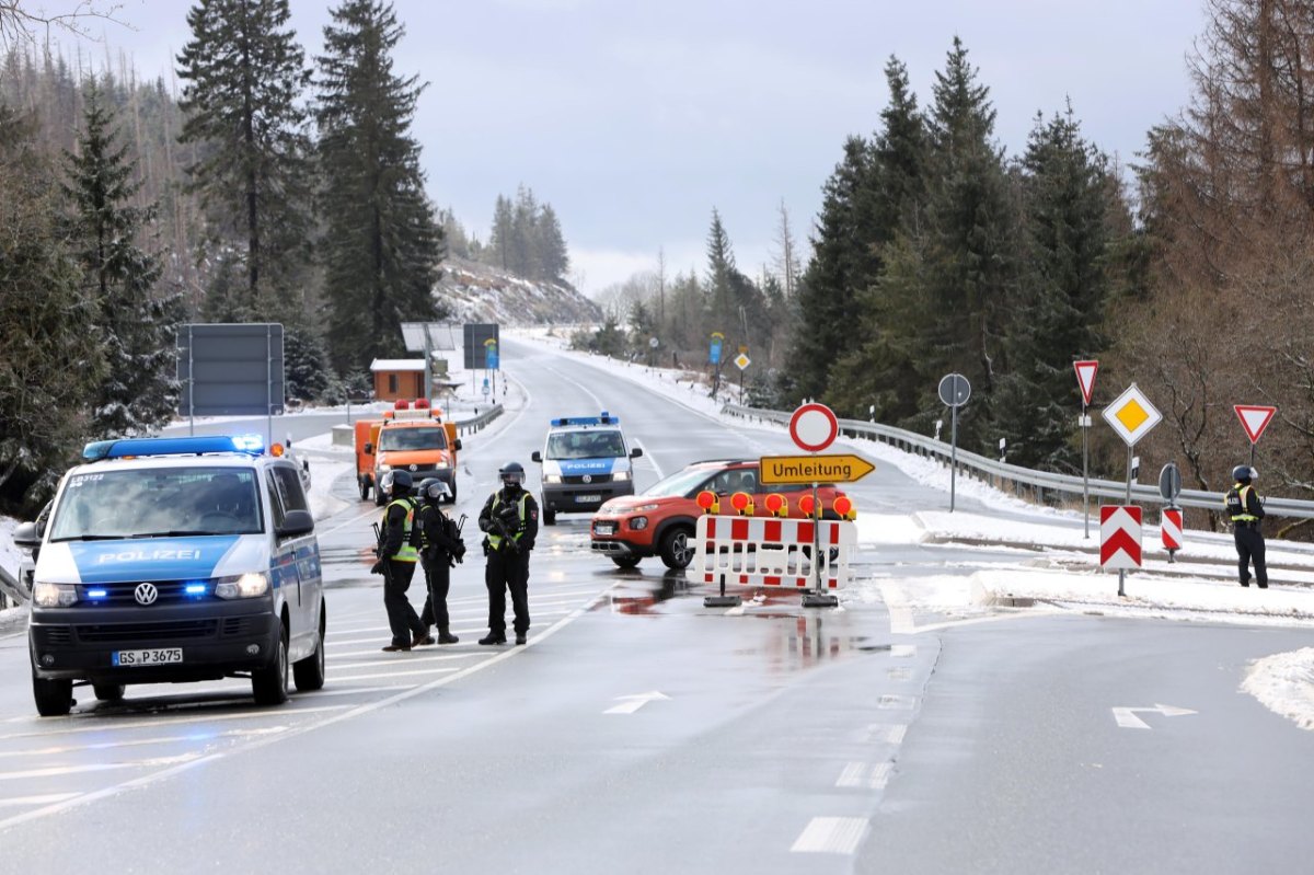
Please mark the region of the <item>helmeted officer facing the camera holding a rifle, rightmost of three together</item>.
[[489, 590], [489, 633], [480, 644], [506, 644], [506, 591], [515, 611], [515, 642], [524, 644], [530, 631], [530, 550], [539, 535], [539, 503], [524, 487], [524, 469], [511, 462], [498, 472], [502, 489], [489, 495], [480, 511], [480, 529], [486, 532], [487, 565], [484, 583]]

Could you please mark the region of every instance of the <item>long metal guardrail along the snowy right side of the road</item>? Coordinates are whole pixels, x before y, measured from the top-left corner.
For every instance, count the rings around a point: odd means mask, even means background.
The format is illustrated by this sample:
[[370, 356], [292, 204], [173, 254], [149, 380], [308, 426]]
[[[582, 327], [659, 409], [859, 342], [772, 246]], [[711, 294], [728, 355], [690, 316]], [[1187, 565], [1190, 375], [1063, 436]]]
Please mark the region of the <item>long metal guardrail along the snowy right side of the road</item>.
[[[791, 414], [779, 410], [758, 410], [740, 405], [725, 405], [721, 407], [721, 411], [732, 416], [774, 422], [786, 427], [791, 416]], [[953, 449], [945, 441], [892, 426], [882, 426], [880, 423], [863, 422], [861, 419], [841, 419], [840, 434], [876, 440], [918, 456], [936, 459], [945, 465], [950, 465], [953, 461]], [[1083, 480], [1080, 477], [1009, 465], [1008, 462], [968, 452], [962, 447], [958, 448], [958, 468], [961, 472], [966, 470], [970, 474], [975, 474], [978, 478], [988, 481], [996, 487], [1001, 487], [1004, 483], [1026, 486], [1035, 491], [1035, 501], [1042, 505], [1045, 503], [1046, 491], [1076, 497], [1083, 494]], [[1126, 499], [1127, 485], [1125, 482], [1096, 478], [1091, 478], [1089, 482], [1092, 497], [1113, 498], [1120, 502]], [[1131, 483], [1131, 501], [1147, 505], [1164, 503], [1163, 495], [1159, 494], [1158, 483]], [[1184, 489], [1177, 497], [1177, 505], [1181, 507], [1222, 511], [1223, 497], [1221, 493]], [[1269, 516], [1314, 519], [1314, 501], [1269, 495], [1264, 498], [1264, 510]]]

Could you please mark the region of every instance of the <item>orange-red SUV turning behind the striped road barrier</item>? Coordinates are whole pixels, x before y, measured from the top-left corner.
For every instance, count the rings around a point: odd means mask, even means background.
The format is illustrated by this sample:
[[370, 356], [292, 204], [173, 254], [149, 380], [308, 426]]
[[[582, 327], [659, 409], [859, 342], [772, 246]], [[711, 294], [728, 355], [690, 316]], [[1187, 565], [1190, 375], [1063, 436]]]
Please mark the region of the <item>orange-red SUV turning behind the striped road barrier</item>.
[[[757, 469], [757, 459], [700, 461], [637, 495], [612, 498], [594, 514], [589, 527], [593, 552], [606, 554], [620, 568], [635, 568], [645, 556], [660, 556], [666, 568], [686, 568], [694, 556], [694, 526], [703, 514], [696, 498], [703, 490], [717, 494], [723, 512], [732, 494], [748, 493], [753, 497], [753, 515], [770, 516], [766, 497], [778, 493], [788, 516], [807, 516], [799, 510], [799, 499], [812, 494], [811, 485], [759, 483]], [[830, 507], [840, 494], [825, 483], [817, 487], [817, 502]], [[823, 516], [838, 519], [828, 510]]]

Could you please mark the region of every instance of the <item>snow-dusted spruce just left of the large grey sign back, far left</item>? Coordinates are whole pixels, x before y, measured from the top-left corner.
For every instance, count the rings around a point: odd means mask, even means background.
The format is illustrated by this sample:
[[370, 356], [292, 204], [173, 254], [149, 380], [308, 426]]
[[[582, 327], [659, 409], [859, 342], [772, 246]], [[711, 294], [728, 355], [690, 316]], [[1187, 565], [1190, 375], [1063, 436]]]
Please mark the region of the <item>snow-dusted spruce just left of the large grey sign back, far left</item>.
[[159, 259], [137, 246], [154, 219], [154, 206], [133, 200], [141, 188], [137, 162], [118, 142], [114, 117], [95, 83], [85, 88], [85, 129], [78, 154], [66, 154], [72, 206], [71, 243], [84, 272], [85, 294], [100, 313], [96, 339], [105, 376], [92, 401], [91, 434], [121, 438], [150, 434], [177, 410], [175, 330], [179, 296], [154, 296]]

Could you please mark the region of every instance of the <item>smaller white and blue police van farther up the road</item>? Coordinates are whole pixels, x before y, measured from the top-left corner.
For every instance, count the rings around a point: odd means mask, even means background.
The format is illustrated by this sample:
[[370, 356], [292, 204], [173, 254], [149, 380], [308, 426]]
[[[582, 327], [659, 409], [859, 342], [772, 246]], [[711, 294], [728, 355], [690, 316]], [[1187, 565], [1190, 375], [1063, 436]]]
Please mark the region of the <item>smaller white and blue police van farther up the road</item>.
[[608, 498], [633, 495], [629, 460], [643, 455], [639, 447], [628, 448], [620, 419], [606, 410], [598, 416], [553, 419], [543, 452], [532, 456], [543, 464], [543, 523], [555, 524], [558, 512], [595, 511]]

